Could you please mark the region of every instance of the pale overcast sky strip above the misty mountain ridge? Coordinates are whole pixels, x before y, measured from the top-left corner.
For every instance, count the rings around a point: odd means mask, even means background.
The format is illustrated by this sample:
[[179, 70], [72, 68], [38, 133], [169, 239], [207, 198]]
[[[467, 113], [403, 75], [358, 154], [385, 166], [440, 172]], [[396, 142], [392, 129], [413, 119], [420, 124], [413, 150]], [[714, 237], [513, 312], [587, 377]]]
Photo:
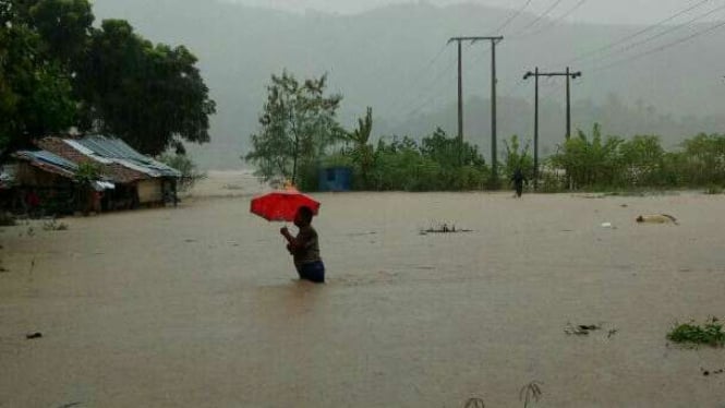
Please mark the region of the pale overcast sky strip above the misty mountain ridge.
[[[386, 4], [418, 2], [411, 0], [227, 0], [250, 5], [274, 8], [303, 12], [307, 9], [324, 10], [337, 13], [357, 13]], [[527, 3], [528, 0], [425, 0], [436, 5], [446, 5], [461, 2], [473, 2], [492, 7], [516, 10]], [[619, 23], [619, 24], [647, 24], [660, 21], [678, 11], [697, 4], [702, 0], [531, 0], [527, 11], [541, 14], [558, 2], [552, 9], [551, 17], [558, 17], [568, 10], [582, 2], [568, 21], [595, 22], [595, 23]], [[722, 1], [710, 0], [693, 10], [691, 16], [708, 12], [715, 7], [722, 5]], [[684, 16], [682, 19], [687, 19]], [[708, 20], [725, 20], [725, 11], [715, 13]]]

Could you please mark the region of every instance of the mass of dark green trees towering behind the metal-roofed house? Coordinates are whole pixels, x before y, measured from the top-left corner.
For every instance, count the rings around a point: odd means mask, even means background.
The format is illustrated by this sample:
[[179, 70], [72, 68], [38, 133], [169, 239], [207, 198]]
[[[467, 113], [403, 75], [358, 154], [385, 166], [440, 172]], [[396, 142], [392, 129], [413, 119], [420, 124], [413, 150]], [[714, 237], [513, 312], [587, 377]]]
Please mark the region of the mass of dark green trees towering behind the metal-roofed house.
[[209, 141], [214, 100], [184, 46], [123, 20], [94, 27], [88, 0], [0, 2], [0, 152], [77, 129], [159, 155]]

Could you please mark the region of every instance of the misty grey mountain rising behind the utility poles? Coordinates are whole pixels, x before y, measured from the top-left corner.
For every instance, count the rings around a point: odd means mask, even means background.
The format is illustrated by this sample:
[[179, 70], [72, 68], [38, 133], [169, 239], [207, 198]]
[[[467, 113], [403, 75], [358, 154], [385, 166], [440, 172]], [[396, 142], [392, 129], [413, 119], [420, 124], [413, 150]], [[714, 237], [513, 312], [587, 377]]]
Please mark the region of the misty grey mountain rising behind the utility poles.
[[[455, 134], [456, 55], [454, 46], [444, 46], [451, 36], [492, 34], [510, 15], [481, 5], [424, 2], [359, 15], [301, 15], [219, 0], [96, 0], [94, 10], [98, 20], [129, 20], [148, 39], [184, 44], [200, 58], [218, 104], [213, 143], [191, 149], [207, 168], [242, 166], [239, 157], [257, 130], [265, 86], [283, 69], [298, 77], [327, 72], [330, 91], [345, 96], [340, 119], [346, 125], [372, 106], [377, 135], [420, 137], [437, 125]], [[497, 47], [499, 139], [531, 137], [533, 81], [521, 81], [525, 71], [536, 64], [563, 70], [567, 61], [641, 29], [543, 22], [531, 35], [516, 32], [532, 19], [517, 19]], [[682, 29], [680, 37], [700, 28]], [[571, 61], [572, 69], [583, 71], [572, 84], [575, 127], [589, 131], [599, 121], [606, 133], [655, 133], [669, 145], [698, 132], [725, 131], [723, 35], [715, 32], [611, 69], [602, 68], [629, 53]], [[663, 36], [631, 52], [677, 38]], [[491, 129], [487, 49], [483, 43], [464, 47], [466, 133], [483, 152], [488, 152]], [[541, 91], [542, 144], [552, 151], [564, 135], [563, 80], [542, 80]]]

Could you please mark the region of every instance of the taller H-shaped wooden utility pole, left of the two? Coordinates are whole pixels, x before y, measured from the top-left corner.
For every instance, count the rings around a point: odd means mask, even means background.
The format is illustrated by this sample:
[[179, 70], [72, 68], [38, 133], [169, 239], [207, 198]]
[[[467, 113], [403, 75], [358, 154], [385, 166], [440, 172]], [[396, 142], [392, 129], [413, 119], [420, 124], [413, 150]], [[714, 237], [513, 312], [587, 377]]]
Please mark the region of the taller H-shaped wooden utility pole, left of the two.
[[452, 37], [448, 44], [452, 41], [458, 43], [458, 141], [459, 141], [459, 161], [462, 164], [461, 151], [463, 148], [463, 64], [462, 64], [462, 43], [470, 41], [491, 41], [491, 168], [494, 181], [498, 178], [496, 158], [496, 44], [504, 40], [503, 36], [486, 37], [486, 36], [471, 36], [471, 37]]

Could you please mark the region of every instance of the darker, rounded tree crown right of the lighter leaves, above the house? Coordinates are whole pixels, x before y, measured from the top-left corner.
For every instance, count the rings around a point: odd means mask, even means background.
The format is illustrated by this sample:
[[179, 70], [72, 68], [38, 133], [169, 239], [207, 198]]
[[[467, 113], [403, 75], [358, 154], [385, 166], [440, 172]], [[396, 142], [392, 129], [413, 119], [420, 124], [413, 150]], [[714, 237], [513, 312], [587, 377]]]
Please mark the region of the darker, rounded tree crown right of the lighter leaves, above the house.
[[78, 72], [84, 129], [113, 134], [143, 153], [209, 141], [216, 105], [185, 47], [153, 45], [122, 20], [106, 20], [90, 36]]

